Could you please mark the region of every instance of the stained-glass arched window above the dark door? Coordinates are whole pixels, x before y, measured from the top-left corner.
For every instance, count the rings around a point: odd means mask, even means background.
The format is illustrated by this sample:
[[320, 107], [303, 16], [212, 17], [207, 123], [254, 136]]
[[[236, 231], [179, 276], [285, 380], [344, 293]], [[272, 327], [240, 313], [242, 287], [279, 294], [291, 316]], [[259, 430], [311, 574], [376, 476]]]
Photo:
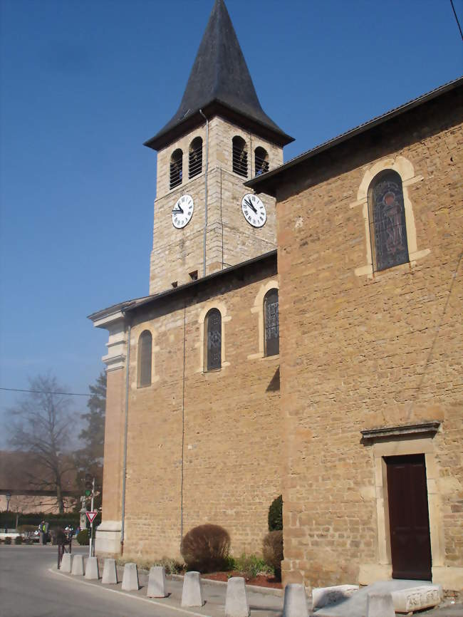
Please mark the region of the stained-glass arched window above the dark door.
[[392, 170], [380, 172], [368, 190], [373, 269], [385, 270], [408, 259], [402, 178]]

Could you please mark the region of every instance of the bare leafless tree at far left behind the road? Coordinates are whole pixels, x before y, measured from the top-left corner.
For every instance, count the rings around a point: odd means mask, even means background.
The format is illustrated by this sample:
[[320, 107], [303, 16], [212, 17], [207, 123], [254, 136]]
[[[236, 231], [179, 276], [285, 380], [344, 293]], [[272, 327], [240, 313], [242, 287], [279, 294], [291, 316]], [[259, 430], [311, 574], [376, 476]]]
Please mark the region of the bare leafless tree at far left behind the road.
[[13, 420], [9, 443], [33, 456], [36, 465], [27, 472], [28, 483], [38, 490], [56, 492], [63, 514], [64, 477], [75, 469], [72, 457], [65, 452], [70, 441], [69, 398], [57, 394], [64, 391], [63, 386], [50, 375], [31, 379], [30, 390], [9, 410]]

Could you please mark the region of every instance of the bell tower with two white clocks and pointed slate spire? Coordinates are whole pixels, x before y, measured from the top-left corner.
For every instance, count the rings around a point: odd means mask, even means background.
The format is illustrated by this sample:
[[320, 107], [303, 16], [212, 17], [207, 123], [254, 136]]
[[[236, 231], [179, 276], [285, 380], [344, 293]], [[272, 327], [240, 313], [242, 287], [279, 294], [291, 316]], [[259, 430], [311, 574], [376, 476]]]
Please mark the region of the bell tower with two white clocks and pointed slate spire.
[[244, 182], [293, 138], [264, 113], [224, 4], [215, 0], [180, 107], [157, 150], [150, 294], [276, 248], [275, 199]]

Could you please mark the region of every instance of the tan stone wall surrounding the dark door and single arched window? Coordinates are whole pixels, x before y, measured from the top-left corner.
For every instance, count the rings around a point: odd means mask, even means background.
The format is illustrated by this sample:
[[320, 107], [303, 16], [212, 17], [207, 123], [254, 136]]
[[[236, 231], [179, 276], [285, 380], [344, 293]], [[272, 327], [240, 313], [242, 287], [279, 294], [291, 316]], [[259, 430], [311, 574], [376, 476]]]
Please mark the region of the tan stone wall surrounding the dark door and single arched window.
[[[294, 172], [277, 195], [283, 577], [355, 583], [378, 563], [373, 452], [360, 430], [440, 420], [434, 438], [444, 566], [463, 566], [462, 131], [456, 101], [417, 110]], [[418, 249], [368, 277], [365, 172], [402, 155]], [[428, 487], [430, 489], [430, 487]]]

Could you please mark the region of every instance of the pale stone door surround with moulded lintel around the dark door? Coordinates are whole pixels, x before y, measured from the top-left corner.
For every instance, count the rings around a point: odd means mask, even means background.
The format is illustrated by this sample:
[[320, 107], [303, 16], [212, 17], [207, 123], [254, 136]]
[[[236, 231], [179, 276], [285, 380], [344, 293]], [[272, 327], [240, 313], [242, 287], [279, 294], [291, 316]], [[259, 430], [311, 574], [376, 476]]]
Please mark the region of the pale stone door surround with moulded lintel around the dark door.
[[374, 498], [377, 523], [377, 561], [360, 564], [359, 583], [369, 585], [380, 579], [392, 578], [390, 549], [389, 501], [387, 497], [387, 465], [385, 457], [425, 455], [427, 503], [430, 518], [432, 579], [439, 578], [445, 565], [444, 521], [439, 492], [439, 467], [434, 437], [441, 430], [440, 422], [363, 430], [364, 445], [372, 447], [375, 473]]

